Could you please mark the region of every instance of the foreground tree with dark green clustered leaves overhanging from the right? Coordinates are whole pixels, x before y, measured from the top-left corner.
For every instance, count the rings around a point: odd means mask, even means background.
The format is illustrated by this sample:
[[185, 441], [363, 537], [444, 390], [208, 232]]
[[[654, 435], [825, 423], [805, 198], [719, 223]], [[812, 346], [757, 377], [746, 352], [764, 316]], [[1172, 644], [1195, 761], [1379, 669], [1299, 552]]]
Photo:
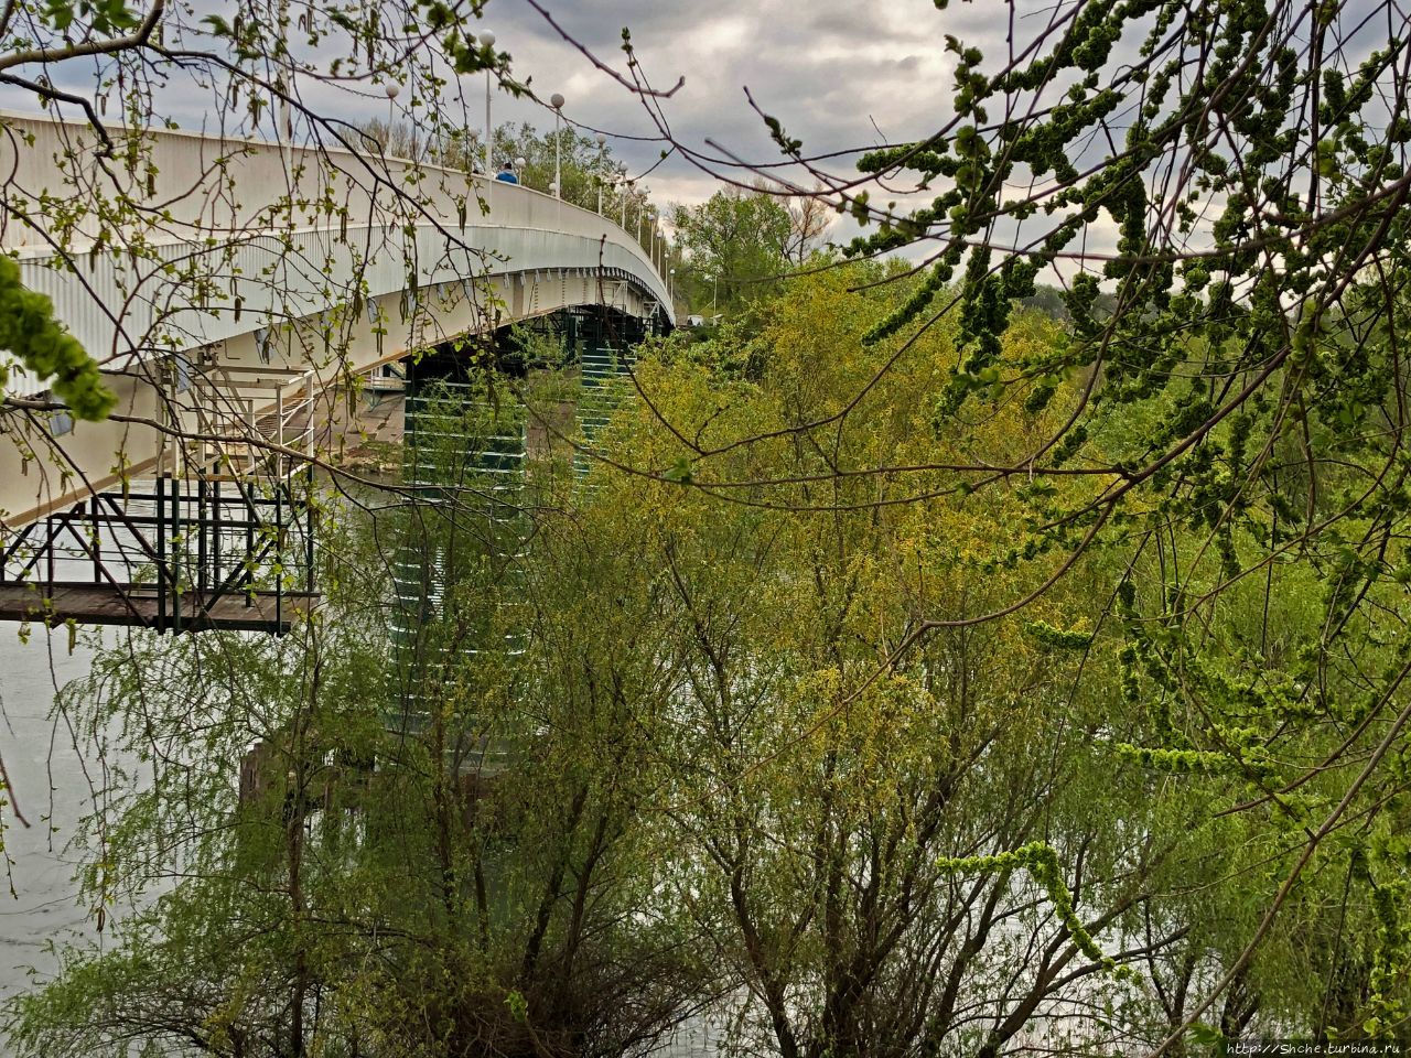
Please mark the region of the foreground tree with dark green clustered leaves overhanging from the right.
[[[706, 467], [777, 437], [825, 444], [954, 319], [957, 357], [930, 398], [930, 429], [969, 432], [1022, 405], [1050, 423], [1043, 434], [1020, 451], [976, 434], [944, 467], [859, 457], [820, 475], [912, 481], [899, 498], [919, 504], [937, 470], [947, 488], [1013, 490], [1029, 512], [1015, 523], [1023, 540], [996, 557], [1070, 561], [989, 612], [933, 602], [917, 643], [1033, 607], [1091, 554], [1125, 549], [1109, 612], [1130, 638], [1129, 694], [1153, 714], [1130, 752], [1153, 769], [1233, 769], [1247, 791], [1212, 810], [1277, 805], [1266, 832], [1292, 849], [1245, 944], [1197, 982], [1199, 999], [1178, 1004], [1157, 1050], [1239, 985], [1322, 868], [1383, 921], [1386, 948], [1366, 955], [1370, 1006], [1348, 1031], [1404, 1033], [1395, 805], [1411, 698], [1405, 657], [1383, 649], [1404, 638], [1407, 581], [1404, 13], [1338, 0], [1016, 1], [996, 52], [962, 39], [955, 6], [935, 6], [952, 68], [931, 89], [941, 117], [859, 150], [855, 172], [809, 155], [787, 104], [765, 99], [751, 102], [782, 158], [749, 165], [673, 141], [741, 183], [763, 175], [782, 195], [821, 183], [865, 226], [852, 253], [906, 250], [914, 282], [859, 336], [878, 360], [855, 401], [721, 444], [683, 430], [689, 473], [641, 468], [748, 502], [770, 482]], [[878, 203], [878, 185], [896, 200]], [[1071, 324], [1051, 347], [1015, 344], [1016, 303], [1040, 281], [1064, 288]], [[1257, 619], [1240, 601], [1249, 591]], [[1281, 626], [1276, 615], [1309, 591], [1316, 614]], [[1235, 612], [1243, 622], [1230, 625]], [[1324, 985], [1336, 1007], [1339, 986]]]

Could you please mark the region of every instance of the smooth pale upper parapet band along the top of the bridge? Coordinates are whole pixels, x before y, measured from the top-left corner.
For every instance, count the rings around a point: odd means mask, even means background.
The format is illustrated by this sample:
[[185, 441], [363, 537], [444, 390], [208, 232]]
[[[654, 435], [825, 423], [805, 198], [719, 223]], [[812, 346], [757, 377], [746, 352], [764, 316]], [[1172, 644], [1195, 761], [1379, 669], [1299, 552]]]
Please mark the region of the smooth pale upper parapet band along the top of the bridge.
[[[0, 172], [7, 174], [4, 205], [10, 212], [23, 207], [25, 197], [38, 202], [42, 190], [51, 196], [63, 196], [63, 188], [99, 189], [109, 196], [120, 192], [161, 214], [158, 230], [141, 233], [145, 240], [185, 241], [192, 234], [241, 233], [275, 219], [279, 227], [337, 227], [340, 221], [367, 224], [388, 213], [420, 214], [423, 221], [454, 229], [483, 223], [478, 196], [490, 206], [488, 223], [605, 237], [656, 274], [650, 255], [610, 217], [519, 183], [384, 157], [351, 127], [339, 138], [320, 130], [323, 141], [313, 144], [135, 130], [141, 154], [131, 168], [121, 157], [100, 161], [102, 144], [85, 121], [0, 110]], [[109, 126], [109, 133], [121, 147], [130, 130]], [[23, 223], [0, 216], [0, 245], [51, 248], [45, 233], [61, 227], [68, 238], [96, 238], [100, 213], [86, 210], [82, 202], [68, 205], [75, 216], [65, 214], [61, 224], [41, 210], [27, 210]], [[330, 216], [330, 206], [337, 216]], [[71, 248], [86, 250], [78, 241]]]

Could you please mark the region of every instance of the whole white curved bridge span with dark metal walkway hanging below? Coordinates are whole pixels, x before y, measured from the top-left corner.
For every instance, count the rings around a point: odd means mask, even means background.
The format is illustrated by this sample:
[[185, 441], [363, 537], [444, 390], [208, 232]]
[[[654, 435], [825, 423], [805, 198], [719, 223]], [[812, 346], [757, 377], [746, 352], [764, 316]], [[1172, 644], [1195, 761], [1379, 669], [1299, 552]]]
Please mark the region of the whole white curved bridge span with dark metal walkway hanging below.
[[674, 322], [665, 250], [549, 195], [351, 130], [110, 131], [0, 113], [0, 248], [117, 395], [75, 425], [11, 367], [0, 619], [285, 631], [317, 600], [309, 458], [358, 379], [566, 309]]

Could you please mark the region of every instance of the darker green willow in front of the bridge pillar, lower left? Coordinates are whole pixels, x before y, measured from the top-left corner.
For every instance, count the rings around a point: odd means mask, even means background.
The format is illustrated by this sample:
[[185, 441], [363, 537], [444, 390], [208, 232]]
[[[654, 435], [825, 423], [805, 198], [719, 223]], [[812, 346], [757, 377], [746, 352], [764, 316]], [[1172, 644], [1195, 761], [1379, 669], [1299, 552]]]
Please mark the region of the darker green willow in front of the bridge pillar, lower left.
[[418, 502], [344, 505], [289, 635], [134, 632], [65, 690], [109, 763], [79, 841], [100, 942], [7, 1006], [17, 1054], [619, 1058], [701, 1004], [624, 710], [665, 700], [618, 649], [650, 600], [586, 612], [626, 553], [519, 552], [502, 427], [429, 399]]

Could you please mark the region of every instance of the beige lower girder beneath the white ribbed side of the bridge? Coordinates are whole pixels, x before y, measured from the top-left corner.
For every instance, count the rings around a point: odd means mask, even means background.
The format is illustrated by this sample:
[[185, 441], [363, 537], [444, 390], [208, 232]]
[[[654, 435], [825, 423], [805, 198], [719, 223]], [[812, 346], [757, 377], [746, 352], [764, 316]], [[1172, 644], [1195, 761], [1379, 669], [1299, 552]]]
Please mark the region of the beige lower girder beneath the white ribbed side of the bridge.
[[[333, 408], [361, 385], [373, 368], [404, 360], [456, 339], [488, 339], [495, 329], [573, 306], [598, 305], [602, 281], [590, 274], [507, 274], [491, 276], [477, 296], [456, 296], [443, 306], [409, 306], [402, 295], [370, 303], [358, 319], [343, 322], [337, 351], [330, 350], [319, 319], [305, 319], [282, 333], [251, 332], [188, 350], [181, 358], [148, 361], [106, 381], [117, 396], [103, 423], [13, 415], [18, 443], [0, 446], [0, 525], [10, 530], [61, 511], [96, 491], [133, 477], [182, 473], [175, 453], [181, 437], [214, 437], [207, 447], [238, 450], [247, 457], [254, 437], [288, 449], [289, 430], [277, 418], [281, 402], [313, 401], [313, 418], [330, 422]], [[622, 317], [650, 319], [658, 306], [625, 281], [608, 285]], [[494, 308], [487, 308], [494, 306]], [[262, 436], [261, 436], [262, 434]], [[327, 450], [327, 436], [301, 437], [299, 454]], [[213, 451], [214, 454], [214, 451]]]

